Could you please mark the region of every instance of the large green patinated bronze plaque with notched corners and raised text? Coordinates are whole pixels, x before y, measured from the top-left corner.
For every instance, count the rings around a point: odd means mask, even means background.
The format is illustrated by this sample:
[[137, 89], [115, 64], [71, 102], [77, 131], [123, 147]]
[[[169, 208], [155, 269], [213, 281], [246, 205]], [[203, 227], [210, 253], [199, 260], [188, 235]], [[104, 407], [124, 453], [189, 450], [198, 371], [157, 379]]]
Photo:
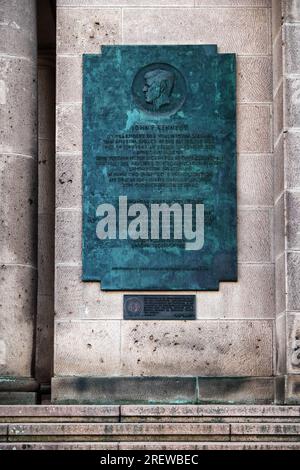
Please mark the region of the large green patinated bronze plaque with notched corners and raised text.
[[83, 280], [237, 280], [235, 88], [235, 55], [214, 45], [84, 55]]

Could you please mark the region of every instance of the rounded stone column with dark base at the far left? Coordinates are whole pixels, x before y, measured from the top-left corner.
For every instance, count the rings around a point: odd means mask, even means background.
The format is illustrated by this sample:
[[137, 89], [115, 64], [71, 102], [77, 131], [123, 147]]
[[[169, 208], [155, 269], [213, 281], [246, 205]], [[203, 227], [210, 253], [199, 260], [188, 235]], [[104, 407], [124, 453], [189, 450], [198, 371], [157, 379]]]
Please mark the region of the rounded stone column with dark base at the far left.
[[[3, 0], [0, 4], [0, 392], [6, 403], [35, 399], [35, 3]], [[24, 392], [29, 393], [24, 396]]]

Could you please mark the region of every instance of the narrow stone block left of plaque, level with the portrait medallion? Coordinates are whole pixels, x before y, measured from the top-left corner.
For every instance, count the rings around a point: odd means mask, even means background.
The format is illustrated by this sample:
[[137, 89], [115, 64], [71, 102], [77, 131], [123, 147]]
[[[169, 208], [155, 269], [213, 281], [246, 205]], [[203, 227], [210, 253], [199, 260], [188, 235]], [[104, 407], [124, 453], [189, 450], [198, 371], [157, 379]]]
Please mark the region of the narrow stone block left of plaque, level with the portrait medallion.
[[80, 103], [82, 101], [82, 56], [57, 56], [56, 67], [56, 102], [59, 104]]

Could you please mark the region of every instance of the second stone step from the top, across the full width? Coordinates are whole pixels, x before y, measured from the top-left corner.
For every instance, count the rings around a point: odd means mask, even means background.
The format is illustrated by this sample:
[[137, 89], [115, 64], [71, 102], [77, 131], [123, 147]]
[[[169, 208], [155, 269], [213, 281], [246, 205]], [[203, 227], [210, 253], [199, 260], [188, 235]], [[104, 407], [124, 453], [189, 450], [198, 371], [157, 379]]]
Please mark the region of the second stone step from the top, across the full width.
[[259, 441], [300, 442], [300, 423], [25, 423], [1, 424], [2, 441]]

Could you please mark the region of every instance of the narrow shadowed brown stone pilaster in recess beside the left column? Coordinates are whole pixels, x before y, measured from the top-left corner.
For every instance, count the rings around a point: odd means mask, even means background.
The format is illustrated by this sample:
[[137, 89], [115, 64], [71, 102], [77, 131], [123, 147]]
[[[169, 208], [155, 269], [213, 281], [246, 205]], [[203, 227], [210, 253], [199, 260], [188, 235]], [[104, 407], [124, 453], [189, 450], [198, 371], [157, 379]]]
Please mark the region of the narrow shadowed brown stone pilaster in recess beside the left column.
[[38, 58], [38, 293], [35, 377], [49, 384], [53, 363], [55, 52]]

